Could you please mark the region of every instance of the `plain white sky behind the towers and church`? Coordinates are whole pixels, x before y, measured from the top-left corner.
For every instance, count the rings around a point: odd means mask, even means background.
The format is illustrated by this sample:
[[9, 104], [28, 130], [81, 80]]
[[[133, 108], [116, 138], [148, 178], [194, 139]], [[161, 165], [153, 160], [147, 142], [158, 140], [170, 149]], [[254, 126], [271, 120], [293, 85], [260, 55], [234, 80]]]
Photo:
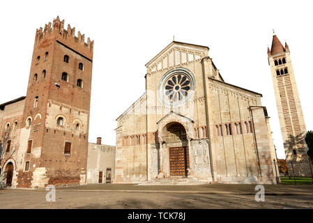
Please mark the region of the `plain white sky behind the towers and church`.
[[225, 82], [263, 94], [284, 158], [267, 45], [291, 51], [307, 130], [312, 114], [312, 1], [1, 1], [0, 104], [26, 95], [36, 29], [59, 15], [95, 40], [89, 141], [115, 145], [116, 118], [144, 93], [145, 64], [175, 40], [206, 45]]

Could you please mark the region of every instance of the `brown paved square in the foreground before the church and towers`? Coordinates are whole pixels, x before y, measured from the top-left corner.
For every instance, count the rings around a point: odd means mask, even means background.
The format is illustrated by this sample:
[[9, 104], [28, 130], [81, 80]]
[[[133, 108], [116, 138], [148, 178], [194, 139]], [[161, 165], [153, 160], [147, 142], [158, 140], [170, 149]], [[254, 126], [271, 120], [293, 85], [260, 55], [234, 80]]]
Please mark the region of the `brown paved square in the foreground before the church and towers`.
[[56, 202], [45, 190], [0, 190], [0, 208], [313, 208], [312, 185], [84, 185], [57, 188]]

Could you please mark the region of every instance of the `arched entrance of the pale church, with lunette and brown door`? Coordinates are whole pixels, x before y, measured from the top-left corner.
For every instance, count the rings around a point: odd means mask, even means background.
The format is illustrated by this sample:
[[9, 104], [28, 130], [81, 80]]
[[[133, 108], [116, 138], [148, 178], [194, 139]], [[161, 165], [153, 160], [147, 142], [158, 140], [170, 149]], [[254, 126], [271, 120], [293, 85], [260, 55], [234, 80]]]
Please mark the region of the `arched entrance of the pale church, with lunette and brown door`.
[[181, 123], [169, 123], [162, 132], [169, 155], [169, 175], [188, 176], [189, 153], [186, 131]]

